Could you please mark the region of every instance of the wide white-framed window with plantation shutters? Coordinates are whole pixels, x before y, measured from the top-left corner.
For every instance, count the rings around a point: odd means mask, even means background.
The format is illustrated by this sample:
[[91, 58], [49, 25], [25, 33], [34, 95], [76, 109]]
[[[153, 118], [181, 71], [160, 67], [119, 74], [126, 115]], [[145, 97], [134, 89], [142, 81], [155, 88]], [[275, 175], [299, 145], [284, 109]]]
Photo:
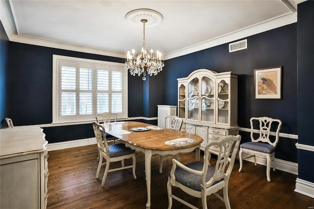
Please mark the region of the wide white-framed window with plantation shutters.
[[95, 120], [97, 113], [128, 117], [123, 63], [53, 55], [52, 123]]

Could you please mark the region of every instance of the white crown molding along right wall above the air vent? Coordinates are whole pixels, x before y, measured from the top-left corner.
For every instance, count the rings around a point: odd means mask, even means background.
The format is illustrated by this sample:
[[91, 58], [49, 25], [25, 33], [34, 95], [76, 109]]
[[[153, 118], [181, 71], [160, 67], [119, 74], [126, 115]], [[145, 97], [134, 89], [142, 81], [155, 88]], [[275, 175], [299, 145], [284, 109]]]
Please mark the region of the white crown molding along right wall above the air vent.
[[238, 39], [246, 38], [251, 35], [262, 33], [267, 30], [275, 29], [281, 26], [286, 26], [286, 25], [296, 23], [296, 22], [297, 22], [297, 12], [293, 12], [293, 13], [289, 12], [288, 14], [284, 14], [280, 17], [269, 19], [262, 23], [255, 24], [253, 26], [248, 26], [246, 28], [242, 28], [240, 30], [227, 33], [225, 35], [210, 39], [208, 41], [205, 41], [196, 45], [192, 45], [190, 47], [183, 48], [175, 52], [164, 54], [163, 58], [167, 60], [167, 59], [172, 59], [175, 57], [183, 56], [185, 54], [198, 52], [201, 50], [205, 50], [211, 47], [233, 42]]

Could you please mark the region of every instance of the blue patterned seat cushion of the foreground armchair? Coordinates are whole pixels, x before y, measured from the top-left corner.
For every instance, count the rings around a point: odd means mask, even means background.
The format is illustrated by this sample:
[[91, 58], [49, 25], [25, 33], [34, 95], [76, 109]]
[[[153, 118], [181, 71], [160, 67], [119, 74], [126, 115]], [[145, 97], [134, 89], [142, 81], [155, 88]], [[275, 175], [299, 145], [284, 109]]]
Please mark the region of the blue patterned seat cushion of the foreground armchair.
[[[185, 166], [189, 167], [193, 170], [201, 171], [203, 169], [203, 162], [195, 161], [195, 162], [189, 163]], [[206, 174], [206, 181], [209, 181], [209, 179], [214, 175], [214, 173], [215, 173], [215, 168], [208, 166], [208, 171]], [[168, 176], [170, 177], [170, 171], [169, 171]], [[176, 181], [178, 183], [186, 185], [186, 187], [188, 187], [188, 188], [191, 188], [195, 191], [201, 191], [202, 190], [201, 176], [198, 176], [196, 174], [192, 174], [192, 173], [184, 170], [183, 168], [177, 167], [175, 170], [175, 177], [176, 177]], [[216, 181], [213, 184], [221, 182], [222, 180], [223, 179]]]

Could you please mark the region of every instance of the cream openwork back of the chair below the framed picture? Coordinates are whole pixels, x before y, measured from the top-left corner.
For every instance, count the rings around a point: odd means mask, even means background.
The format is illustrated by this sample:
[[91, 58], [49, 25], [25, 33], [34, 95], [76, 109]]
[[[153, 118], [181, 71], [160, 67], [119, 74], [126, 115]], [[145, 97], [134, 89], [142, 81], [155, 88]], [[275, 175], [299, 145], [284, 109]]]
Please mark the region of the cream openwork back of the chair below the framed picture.
[[[255, 128], [255, 123], [258, 122], [259, 124], [259, 137], [257, 138], [254, 135]], [[273, 123], [275, 122], [275, 123]], [[273, 119], [269, 117], [252, 117], [250, 119], [250, 125], [251, 125], [251, 140], [252, 142], [266, 142], [274, 147], [277, 146], [277, 143], [279, 141], [279, 131], [281, 129], [282, 122], [279, 119]], [[275, 133], [275, 140], [271, 141], [270, 140], [270, 135], [271, 135], [271, 129], [276, 129]]]

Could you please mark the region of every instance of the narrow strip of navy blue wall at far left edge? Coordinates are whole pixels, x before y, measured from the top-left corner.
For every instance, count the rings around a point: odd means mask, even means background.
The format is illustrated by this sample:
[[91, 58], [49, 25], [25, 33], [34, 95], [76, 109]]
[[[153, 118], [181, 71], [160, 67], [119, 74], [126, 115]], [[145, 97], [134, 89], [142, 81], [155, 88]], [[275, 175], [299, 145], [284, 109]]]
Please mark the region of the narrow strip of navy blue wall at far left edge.
[[7, 79], [8, 79], [8, 56], [9, 39], [0, 21], [0, 129], [7, 127], [5, 118], [7, 117]]

